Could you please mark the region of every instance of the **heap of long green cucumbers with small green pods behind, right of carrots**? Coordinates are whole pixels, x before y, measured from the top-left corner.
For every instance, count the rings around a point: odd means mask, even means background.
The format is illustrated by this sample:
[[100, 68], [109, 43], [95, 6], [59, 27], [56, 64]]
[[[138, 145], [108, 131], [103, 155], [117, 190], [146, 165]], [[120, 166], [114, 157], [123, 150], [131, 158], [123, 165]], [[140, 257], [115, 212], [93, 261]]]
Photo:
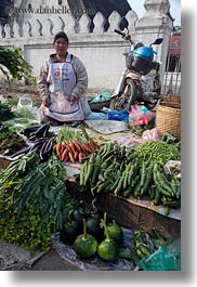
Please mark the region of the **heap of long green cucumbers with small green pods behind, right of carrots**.
[[167, 175], [165, 165], [180, 159], [178, 146], [162, 141], [131, 148], [107, 142], [83, 159], [79, 182], [93, 197], [103, 192], [136, 199], [148, 196], [154, 205], [179, 207], [181, 180]]

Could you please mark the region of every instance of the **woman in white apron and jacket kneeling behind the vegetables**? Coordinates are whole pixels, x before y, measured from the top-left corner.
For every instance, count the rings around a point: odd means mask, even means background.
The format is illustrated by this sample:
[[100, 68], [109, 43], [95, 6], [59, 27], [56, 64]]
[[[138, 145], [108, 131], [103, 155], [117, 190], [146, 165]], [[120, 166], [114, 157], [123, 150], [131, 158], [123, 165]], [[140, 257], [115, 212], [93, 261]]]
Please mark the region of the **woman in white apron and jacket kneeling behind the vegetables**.
[[41, 123], [81, 122], [90, 113], [86, 101], [87, 70], [77, 56], [67, 52], [68, 44], [67, 35], [57, 32], [53, 40], [55, 53], [40, 69], [38, 91], [42, 97]]

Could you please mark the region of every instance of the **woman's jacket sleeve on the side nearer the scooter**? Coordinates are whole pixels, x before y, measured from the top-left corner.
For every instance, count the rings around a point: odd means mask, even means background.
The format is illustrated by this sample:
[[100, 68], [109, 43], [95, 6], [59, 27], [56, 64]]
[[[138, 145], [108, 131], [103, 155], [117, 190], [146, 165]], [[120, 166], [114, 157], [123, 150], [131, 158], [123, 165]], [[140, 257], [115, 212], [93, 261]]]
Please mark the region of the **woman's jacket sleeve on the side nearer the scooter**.
[[88, 74], [84, 65], [78, 57], [74, 56], [73, 65], [76, 73], [76, 87], [74, 88], [71, 95], [80, 99], [87, 93]]

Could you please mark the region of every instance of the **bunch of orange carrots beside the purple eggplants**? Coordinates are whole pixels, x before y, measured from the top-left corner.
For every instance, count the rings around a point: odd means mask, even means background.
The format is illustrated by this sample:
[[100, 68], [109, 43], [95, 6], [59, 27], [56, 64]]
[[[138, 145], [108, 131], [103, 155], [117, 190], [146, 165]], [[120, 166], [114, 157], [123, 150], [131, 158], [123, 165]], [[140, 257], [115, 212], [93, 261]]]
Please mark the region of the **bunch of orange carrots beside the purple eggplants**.
[[100, 148], [100, 145], [90, 139], [87, 143], [71, 140], [69, 143], [62, 141], [53, 146], [53, 152], [64, 162], [81, 162], [81, 159]]

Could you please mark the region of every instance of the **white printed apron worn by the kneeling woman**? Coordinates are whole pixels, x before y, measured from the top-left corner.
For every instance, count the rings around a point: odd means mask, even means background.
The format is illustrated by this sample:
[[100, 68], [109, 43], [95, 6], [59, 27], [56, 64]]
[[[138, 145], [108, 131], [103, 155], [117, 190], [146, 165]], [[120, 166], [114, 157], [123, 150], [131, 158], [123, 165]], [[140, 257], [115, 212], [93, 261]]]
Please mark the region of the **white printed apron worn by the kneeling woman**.
[[84, 120], [81, 102], [76, 100], [70, 104], [68, 101], [76, 86], [76, 75], [69, 53], [65, 62], [50, 65], [47, 82], [50, 91], [50, 106], [42, 105], [43, 116], [62, 122]]

